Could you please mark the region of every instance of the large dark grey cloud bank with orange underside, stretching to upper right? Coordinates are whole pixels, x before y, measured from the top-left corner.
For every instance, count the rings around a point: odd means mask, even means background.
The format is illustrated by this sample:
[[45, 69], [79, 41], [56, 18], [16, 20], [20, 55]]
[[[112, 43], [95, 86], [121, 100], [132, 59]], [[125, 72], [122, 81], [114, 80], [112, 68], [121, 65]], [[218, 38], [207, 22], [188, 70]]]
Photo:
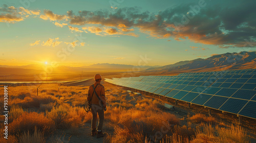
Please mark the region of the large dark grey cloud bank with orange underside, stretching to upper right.
[[[256, 3], [235, 1], [236, 5], [221, 5], [201, 8], [193, 15], [191, 4], [178, 5], [157, 13], [141, 11], [140, 8], [119, 8], [109, 11], [79, 11], [69, 17], [72, 25], [101, 25], [115, 28], [138, 28], [140, 32], [155, 38], [172, 37], [178, 41], [191, 40], [196, 43], [243, 47], [244, 39], [252, 37], [256, 45]], [[192, 15], [191, 15], [192, 13]], [[187, 18], [190, 14], [190, 17]], [[187, 19], [186, 19], [187, 18]], [[113, 34], [113, 33], [112, 33]], [[249, 46], [248, 44], [246, 46]]]

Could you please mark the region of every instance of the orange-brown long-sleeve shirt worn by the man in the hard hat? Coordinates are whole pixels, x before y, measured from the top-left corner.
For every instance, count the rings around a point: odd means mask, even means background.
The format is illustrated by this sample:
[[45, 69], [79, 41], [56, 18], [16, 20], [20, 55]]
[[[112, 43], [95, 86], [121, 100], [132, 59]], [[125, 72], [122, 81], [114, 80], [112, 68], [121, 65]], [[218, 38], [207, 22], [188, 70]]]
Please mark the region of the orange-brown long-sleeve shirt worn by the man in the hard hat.
[[[96, 87], [97, 85], [97, 87]], [[95, 88], [96, 87], [96, 88]], [[95, 92], [98, 94], [99, 98], [102, 100], [103, 102], [103, 107], [106, 107], [106, 98], [105, 98], [105, 88], [102, 84], [100, 84], [100, 82], [95, 82], [94, 83], [94, 88], [95, 88]], [[93, 95], [93, 97], [92, 97]], [[91, 85], [89, 87], [89, 90], [88, 90], [88, 96], [87, 96], [87, 100], [90, 101], [92, 98], [92, 104], [97, 104], [99, 105], [99, 100], [96, 96], [96, 94], [94, 93], [93, 94], [93, 85]]]

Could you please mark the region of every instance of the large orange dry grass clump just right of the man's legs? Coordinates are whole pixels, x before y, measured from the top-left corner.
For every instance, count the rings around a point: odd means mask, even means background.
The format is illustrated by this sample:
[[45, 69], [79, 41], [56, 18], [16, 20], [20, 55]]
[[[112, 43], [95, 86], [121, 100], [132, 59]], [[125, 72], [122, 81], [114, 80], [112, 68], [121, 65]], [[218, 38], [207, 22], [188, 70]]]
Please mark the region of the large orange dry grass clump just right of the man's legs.
[[[171, 133], [169, 128], [179, 124], [179, 119], [159, 108], [159, 102], [140, 102], [136, 108], [110, 107], [105, 112], [107, 121], [113, 123], [114, 134], [106, 137], [106, 142], [145, 142], [145, 137], [165, 130], [164, 134]], [[154, 109], [154, 110], [152, 110]], [[106, 129], [108, 130], [108, 129]]]

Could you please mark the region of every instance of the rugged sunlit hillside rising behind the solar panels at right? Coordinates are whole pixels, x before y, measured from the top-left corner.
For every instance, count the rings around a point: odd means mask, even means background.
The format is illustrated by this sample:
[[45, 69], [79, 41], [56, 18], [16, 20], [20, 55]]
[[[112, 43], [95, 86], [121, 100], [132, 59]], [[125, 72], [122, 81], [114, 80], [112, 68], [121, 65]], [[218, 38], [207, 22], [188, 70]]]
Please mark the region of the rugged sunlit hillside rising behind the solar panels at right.
[[256, 52], [220, 54], [206, 59], [199, 58], [161, 67], [148, 68], [145, 71], [160, 71], [161, 73], [166, 74], [248, 68], [256, 68]]

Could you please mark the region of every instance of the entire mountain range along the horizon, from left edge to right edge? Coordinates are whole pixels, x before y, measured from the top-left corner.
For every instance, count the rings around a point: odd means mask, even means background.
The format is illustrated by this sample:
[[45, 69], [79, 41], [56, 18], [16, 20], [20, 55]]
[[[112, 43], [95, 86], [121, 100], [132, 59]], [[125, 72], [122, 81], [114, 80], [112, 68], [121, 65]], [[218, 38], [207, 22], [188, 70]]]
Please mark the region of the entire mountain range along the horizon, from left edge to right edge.
[[[47, 67], [49, 65], [45, 65]], [[155, 74], [172, 74], [185, 72], [200, 72], [200, 71], [216, 71], [227, 69], [249, 69], [256, 68], [256, 52], [240, 52], [240, 53], [225, 53], [213, 55], [206, 59], [195, 59], [190, 61], [180, 61], [175, 64], [164, 66], [135, 66], [126, 64], [110, 64], [97, 63], [88, 66], [58, 66], [54, 71], [56, 73], [63, 72], [84, 72], [87, 71], [130, 71], [132, 68], [139, 68], [143, 72]], [[21, 74], [21, 73], [40, 73], [44, 70], [44, 66], [38, 64], [30, 64], [23, 66], [0, 65], [0, 74]]]

